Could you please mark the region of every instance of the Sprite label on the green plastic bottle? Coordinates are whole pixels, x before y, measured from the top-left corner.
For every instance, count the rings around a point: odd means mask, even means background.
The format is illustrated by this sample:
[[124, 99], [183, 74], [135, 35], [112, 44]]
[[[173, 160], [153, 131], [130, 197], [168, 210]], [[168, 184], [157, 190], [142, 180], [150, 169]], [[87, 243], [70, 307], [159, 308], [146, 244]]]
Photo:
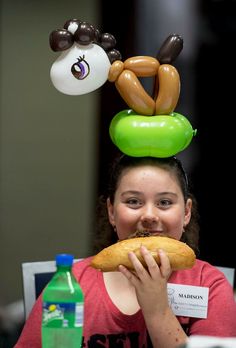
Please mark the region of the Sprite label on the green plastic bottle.
[[53, 328], [82, 327], [83, 319], [83, 303], [43, 302], [43, 326]]

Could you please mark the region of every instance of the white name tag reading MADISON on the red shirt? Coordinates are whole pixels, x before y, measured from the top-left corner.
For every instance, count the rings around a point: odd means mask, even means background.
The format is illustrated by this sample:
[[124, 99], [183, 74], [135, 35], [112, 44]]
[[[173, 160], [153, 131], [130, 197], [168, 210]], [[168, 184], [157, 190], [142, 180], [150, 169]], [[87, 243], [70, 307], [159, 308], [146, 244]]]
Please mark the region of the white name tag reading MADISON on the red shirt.
[[167, 284], [169, 305], [175, 315], [207, 318], [209, 288]]

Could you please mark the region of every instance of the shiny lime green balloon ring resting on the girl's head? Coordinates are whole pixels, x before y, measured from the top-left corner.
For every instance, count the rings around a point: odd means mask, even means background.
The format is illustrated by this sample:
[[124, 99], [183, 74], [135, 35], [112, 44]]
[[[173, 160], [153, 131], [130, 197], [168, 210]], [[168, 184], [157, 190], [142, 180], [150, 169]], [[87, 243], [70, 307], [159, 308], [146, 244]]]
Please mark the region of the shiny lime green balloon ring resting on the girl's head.
[[184, 150], [196, 130], [181, 114], [142, 116], [133, 110], [116, 114], [109, 133], [113, 143], [133, 157], [170, 157]]

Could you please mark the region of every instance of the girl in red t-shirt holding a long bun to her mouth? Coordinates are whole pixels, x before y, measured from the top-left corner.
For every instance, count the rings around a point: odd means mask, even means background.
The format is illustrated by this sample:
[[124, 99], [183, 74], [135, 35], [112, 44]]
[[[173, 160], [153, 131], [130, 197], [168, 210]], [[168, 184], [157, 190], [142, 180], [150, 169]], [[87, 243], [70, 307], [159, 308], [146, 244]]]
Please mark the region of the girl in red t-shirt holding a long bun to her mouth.
[[[145, 232], [184, 241], [197, 253], [196, 202], [175, 157], [122, 155], [99, 207], [97, 250]], [[172, 271], [163, 250], [158, 251], [160, 267], [147, 249], [141, 247], [141, 253], [147, 268], [129, 254], [135, 272], [122, 265], [118, 272], [99, 272], [90, 267], [91, 257], [74, 264], [85, 295], [82, 347], [176, 348], [189, 335], [236, 336], [233, 289], [219, 270], [197, 260], [191, 269]], [[171, 284], [195, 286], [196, 294], [209, 289], [206, 317], [199, 315], [197, 303], [191, 315], [175, 314], [168, 299]], [[41, 317], [40, 296], [15, 348], [41, 347]]]

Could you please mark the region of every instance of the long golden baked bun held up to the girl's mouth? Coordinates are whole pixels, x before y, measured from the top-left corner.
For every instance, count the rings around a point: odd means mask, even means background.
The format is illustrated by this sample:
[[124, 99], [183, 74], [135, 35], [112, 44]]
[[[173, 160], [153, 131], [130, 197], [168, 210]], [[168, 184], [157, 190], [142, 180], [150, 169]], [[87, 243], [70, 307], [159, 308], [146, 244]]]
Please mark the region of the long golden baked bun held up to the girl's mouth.
[[143, 266], [146, 266], [140, 254], [141, 245], [148, 249], [158, 265], [160, 265], [160, 259], [157, 251], [158, 249], [164, 250], [173, 270], [191, 268], [196, 260], [194, 251], [186, 243], [169, 237], [150, 236], [125, 239], [112, 244], [95, 255], [90, 265], [103, 272], [117, 271], [119, 265], [133, 270], [133, 265], [128, 257], [128, 253], [133, 251]]

